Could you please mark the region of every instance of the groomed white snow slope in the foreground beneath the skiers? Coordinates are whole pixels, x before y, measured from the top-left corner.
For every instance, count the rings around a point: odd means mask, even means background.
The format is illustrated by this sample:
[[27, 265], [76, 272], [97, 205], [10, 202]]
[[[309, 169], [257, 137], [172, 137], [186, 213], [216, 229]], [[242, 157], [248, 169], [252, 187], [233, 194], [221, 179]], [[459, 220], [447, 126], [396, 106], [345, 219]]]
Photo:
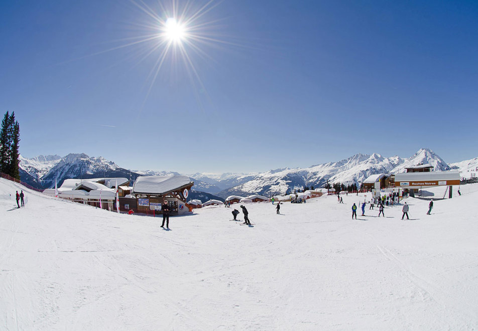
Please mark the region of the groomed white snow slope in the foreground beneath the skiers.
[[360, 194], [247, 204], [254, 227], [210, 206], [164, 231], [0, 179], [0, 329], [473, 329], [478, 185], [460, 191], [431, 215], [408, 198], [410, 220], [360, 216]]

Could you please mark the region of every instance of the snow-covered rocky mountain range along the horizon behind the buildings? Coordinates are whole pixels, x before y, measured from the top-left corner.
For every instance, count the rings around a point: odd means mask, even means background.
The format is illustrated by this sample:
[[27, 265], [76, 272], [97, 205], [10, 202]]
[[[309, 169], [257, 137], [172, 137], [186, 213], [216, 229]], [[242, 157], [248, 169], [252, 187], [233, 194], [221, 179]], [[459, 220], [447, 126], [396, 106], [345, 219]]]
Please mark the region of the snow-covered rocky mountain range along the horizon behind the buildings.
[[[59, 184], [66, 178], [126, 177], [131, 181], [138, 176], [180, 175], [171, 171], [134, 171], [119, 167], [103, 157], [90, 157], [84, 153], [37, 156], [20, 158], [21, 177], [32, 186], [51, 188], [55, 180]], [[470, 177], [478, 167], [478, 157], [462, 162], [447, 164], [431, 149], [422, 148], [408, 158], [384, 157], [378, 153], [355, 154], [349, 158], [312, 165], [309, 168], [284, 168], [265, 173], [195, 173], [186, 174], [194, 181], [195, 191], [229, 195], [275, 195], [301, 189], [304, 186], [323, 187], [327, 182], [356, 184], [360, 186], [370, 175], [380, 173], [401, 173], [406, 167], [430, 163], [435, 171], [460, 170], [463, 177]]]

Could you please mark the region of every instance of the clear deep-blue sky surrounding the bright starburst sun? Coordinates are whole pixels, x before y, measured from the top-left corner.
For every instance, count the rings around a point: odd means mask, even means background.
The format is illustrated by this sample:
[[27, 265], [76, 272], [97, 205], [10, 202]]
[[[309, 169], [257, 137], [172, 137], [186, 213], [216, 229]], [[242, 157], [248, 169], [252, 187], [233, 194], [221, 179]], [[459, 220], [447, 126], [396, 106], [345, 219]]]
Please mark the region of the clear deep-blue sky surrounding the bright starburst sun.
[[[174, 16], [145, 4], [152, 16], [126, 0], [0, 4], [0, 110], [22, 155], [179, 172], [478, 156], [476, 1], [212, 2], [189, 26], [209, 41], [182, 44], [192, 66], [174, 46], [155, 79], [158, 39], [121, 47]], [[190, 4], [178, 20], [207, 3]]]

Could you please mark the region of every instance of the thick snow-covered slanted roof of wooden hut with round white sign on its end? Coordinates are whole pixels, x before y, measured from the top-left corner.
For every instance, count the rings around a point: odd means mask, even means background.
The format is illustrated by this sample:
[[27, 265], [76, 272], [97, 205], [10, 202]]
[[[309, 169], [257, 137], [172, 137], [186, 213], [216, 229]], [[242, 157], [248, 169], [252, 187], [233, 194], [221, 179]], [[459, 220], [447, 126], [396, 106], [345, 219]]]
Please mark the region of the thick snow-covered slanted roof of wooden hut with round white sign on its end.
[[132, 193], [164, 194], [194, 184], [187, 176], [141, 176], [136, 179]]

